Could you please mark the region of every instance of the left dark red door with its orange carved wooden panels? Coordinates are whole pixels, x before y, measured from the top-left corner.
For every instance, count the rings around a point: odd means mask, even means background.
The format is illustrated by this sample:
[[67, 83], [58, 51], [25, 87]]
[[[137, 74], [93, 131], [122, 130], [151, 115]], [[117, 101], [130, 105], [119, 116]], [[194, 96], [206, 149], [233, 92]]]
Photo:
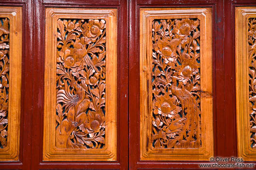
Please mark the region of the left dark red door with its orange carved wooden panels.
[[1, 115], [0, 169], [127, 169], [127, 1], [0, 5], [1, 43], [12, 43], [2, 86], [17, 89]]

